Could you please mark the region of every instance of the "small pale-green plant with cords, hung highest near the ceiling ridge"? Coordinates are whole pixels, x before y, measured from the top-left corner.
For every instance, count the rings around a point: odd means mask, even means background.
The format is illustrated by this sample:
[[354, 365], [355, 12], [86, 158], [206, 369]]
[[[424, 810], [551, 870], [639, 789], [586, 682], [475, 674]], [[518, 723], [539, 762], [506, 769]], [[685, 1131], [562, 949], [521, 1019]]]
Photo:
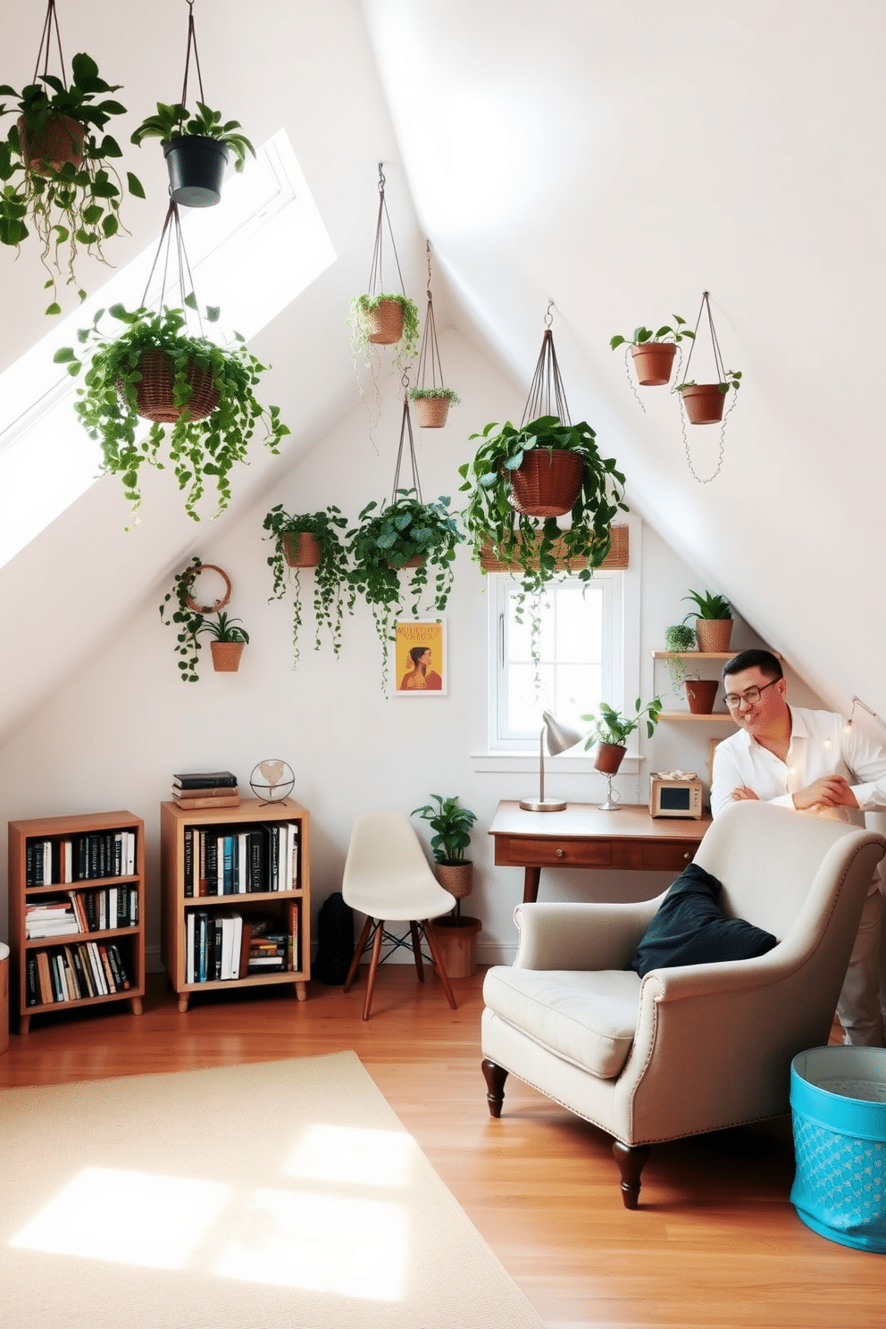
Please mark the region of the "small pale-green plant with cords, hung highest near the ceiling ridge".
[[[357, 356], [363, 355], [365, 365], [372, 375], [372, 396], [375, 409], [371, 411], [371, 429], [381, 415], [381, 393], [379, 388], [381, 375], [381, 358], [377, 347], [396, 346], [393, 365], [402, 368], [405, 360], [413, 356], [418, 347], [418, 308], [414, 300], [406, 295], [400, 259], [393, 241], [393, 229], [385, 202], [385, 177], [383, 163], [379, 162], [379, 217], [376, 221], [376, 238], [372, 250], [372, 266], [369, 268], [369, 284], [363, 295], [351, 298], [351, 314], [348, 326], [351, 328], [351, 348], [353, 351], [353, 364], [357, 371], [357, 384], [360, 395], [365, 397]], [[385, 237], [387, 247], [391, 250], [391, 260], [396, 270], [396, 283], [391, 284], [385, 275]], [[388, 264], [388, 268], [391, 263]], [[400, 290], [396, 290], [396, 286]]]

